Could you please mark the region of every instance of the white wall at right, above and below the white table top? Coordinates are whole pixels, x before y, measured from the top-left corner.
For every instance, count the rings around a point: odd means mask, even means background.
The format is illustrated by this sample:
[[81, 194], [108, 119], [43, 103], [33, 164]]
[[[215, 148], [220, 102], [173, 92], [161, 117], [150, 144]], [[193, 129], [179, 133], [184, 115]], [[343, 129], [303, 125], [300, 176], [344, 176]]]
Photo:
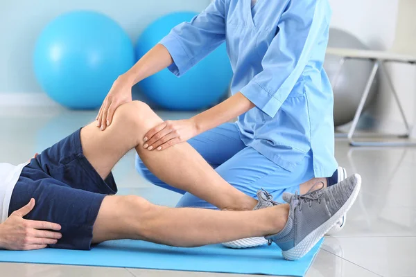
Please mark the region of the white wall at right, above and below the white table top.
[[[415, 0], [329, 1], [333, 8], [333, 27], [349, 30], [372, 49], [416, 55]], [[387, 68], [410, 125], [413, 125], [416, 121], [415, 66], [391, 64]], [[375, 120], [377, 131], [404, 132], [399, 109], [383, 75], [378, 98], [368, 114]], [[413, 136], [416, 136], [416, 129]]]

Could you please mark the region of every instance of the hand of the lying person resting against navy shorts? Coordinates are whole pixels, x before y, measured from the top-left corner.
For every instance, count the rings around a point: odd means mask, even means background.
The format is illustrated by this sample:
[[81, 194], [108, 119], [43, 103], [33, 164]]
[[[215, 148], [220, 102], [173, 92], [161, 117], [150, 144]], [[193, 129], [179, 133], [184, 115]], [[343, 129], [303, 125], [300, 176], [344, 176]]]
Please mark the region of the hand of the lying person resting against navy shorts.
[[0, 249], [35, 250], [48, 244], [55, 244], [62, 235], [61, 226], [51, 222], [25, 220], [23, 217], [35, 207], [35, 199], [23, 208], [14, 211], [8, 219], [0, 224]]

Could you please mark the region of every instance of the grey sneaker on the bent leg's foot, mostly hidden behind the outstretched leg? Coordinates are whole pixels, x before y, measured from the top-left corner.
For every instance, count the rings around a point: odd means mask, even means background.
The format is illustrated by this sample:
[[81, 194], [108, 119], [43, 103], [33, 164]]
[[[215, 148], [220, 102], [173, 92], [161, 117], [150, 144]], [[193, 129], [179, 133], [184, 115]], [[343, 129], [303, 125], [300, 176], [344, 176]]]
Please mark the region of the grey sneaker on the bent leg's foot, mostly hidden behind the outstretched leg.
[[[259, 203], [257, 203], [257, 205], [253, 208], [253, 211], [280, 204], [274, 202], [272, 195], [270, 195], [270, 193], [268, 193], [266, 190], [257, 191], [257, 199]], [[233, 240], [232, 242], [223, 243], [225, 247], [234, 249], [259, 247], [261, 245], [266, 244], [268, 244], [268, 240], [266, 240], [266, 238], [263, 237], [243, 238], [241, 240]]]

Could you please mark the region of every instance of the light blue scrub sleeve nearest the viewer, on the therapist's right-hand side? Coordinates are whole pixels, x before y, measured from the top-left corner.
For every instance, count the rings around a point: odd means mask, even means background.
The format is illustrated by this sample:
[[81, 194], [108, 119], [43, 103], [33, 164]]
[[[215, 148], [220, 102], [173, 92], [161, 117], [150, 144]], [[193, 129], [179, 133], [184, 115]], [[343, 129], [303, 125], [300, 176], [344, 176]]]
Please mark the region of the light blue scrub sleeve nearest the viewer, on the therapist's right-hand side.
[[290, 1], [278, 24], [278, 33], [270, 43], [261, 65], [263, 71], [241, 91], [254, 105], [274, 117], [293, 91], [312, 51], [319, 46], [329, 28], [331, 10], [322, 0]]

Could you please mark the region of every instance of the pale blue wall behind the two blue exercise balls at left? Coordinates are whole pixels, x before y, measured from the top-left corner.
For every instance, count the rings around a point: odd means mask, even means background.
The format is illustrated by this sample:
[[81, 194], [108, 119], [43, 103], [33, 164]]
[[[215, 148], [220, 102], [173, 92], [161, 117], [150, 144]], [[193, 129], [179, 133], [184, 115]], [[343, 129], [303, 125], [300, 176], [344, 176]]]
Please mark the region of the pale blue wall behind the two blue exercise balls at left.
[[71, 10], [97, 10], [119, 22], [133, 40], [168, 12], [200, 12], [208, 0], [0, 0], [0, 93], [40, 92], [32, 70], [37, 36], [53, 18]]

